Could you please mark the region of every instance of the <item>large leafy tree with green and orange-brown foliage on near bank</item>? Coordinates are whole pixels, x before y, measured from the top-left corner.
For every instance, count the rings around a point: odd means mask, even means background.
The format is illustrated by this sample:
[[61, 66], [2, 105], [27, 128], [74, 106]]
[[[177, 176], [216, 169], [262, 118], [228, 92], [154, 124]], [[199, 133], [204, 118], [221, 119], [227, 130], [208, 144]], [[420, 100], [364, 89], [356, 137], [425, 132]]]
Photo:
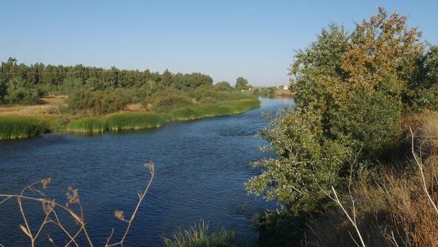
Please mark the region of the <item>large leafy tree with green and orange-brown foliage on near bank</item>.
[[291, 65], [296, 108], [271, 119], [262, 135], [277, 158], [249, 191], [295, 211], [312, 210], [331, 186], [344, 188], [348, 161], [374, 161], [400, 139], [404, 91], [418, 71], [419, 32], [406, 17], [379, 8], [348, 35], [329, 25]]

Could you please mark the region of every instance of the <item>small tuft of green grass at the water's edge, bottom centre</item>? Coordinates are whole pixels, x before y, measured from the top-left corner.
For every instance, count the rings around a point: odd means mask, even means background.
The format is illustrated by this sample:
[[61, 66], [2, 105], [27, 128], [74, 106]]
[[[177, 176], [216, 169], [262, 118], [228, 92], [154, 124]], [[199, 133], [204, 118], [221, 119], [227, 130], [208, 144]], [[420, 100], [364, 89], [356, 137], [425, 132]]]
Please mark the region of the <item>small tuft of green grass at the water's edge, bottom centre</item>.
[[171, 238], [164, 237], [166, 247], [227, 247], [237, 246], [234, 231], [219, 228], [210, 233], [208, 224], [204, 221], [191, 226], [188, 230], [173, 233]]

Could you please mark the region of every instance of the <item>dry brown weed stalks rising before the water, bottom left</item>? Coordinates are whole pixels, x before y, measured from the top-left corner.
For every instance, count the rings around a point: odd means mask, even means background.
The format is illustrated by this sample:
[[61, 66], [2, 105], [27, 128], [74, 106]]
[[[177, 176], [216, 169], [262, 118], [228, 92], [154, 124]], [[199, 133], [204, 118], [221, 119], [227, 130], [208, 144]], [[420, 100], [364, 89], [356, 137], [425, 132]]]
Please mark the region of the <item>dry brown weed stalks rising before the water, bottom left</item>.
[[[123, 237], [121, 237], [121, 239], [118, 242], [114, 242], [113, 244], [110, 244], [111, 239], [112, 239], [112, 235], [114, 234], [114, 228], [112, 228], [110, 236], [107, 238], [105, 247], [110, 247], [110, 246], [123, 246], [123, 242], [125, 241], [127, 234], [130, 231], [130, 227], [132, 225], [132, 222], [134, 221], [135, 217], [136, 217], [136, 213], [141, 205], [141, 203], [143, 202], [143, 200], [145, 200], [145, 196], [147, 191], [149, 191], [151, 184], [152, 184], [152, 180], [154, 180], [154, 176], [155, 176], [155, 166], [154, 163], [149, 162], [145, 164], [145, 167], [147, 169], [149, 169], [149, 173], [151, 174], [151, 177], [149, 178], [149, 182], [147, 183], [147, 187], [145, 188], [144, 191], [142, 191], [141, 193], [138, 193], [138, 202], [136, 204], [136, 207], [134, 209], [134, 212], [132, 213], [130, 220], [125, 220], [124, 219], [124, 215], [122, 211], [114, 211], [114, 217], [116, 217], [118, 220], [121, 220], [123, 222], [127, 223], [127, 226], [125, 228], [125, 231], [123, 233]], [[77, 246], [79, 247], [79, 244], [77, 243], [77, 237], [79, 237], [81, 235], [81, 233], [84, 235], [84, 237], [86, 238], [86, 242], [88, 244], [88, 246], [93, 247], [93, 241], [90, 238], [90, 235], [88, 234], [87, 228], [86, 228], [86, 223], [85, 223], [85, 217], [84, 217], [84, 209], [82, 208], [82, 204], [80, 202], [80, 197], [79, 197], [79, 193], [77, 191], [77, 189], [73, 189], [71, 187], [69, 187], [69, 191], [66, 193], [67, 198], [69, 199], [69, 202], [67, 202], [65, 205], [62, 205], [58, 202], [56, 202], [54, 199], [49, 199], [47, 198], [47, 196], [45, 196], [45, 193], [42, 192], [42, 190], [37, 189], [37, 186], [41, 186], [42, 189], [47, 189], [47, 186], [49, 185], [49, 183], [51, 183], [51, 179], [50, 178], [45, 178], [43, 180], [39, 180], [36, 183], [33, 183], [32, 185], [29, 185], [27, 187], [25, 187], [20, 194], [0, 194], [0, 206], [1, 204], [3, 204], [4, 202], [15, 198], [19, 207], [19, 211], [21, 213], [21, 217], [23, 219], [23, 224], [19, 225], [19, 228], [21, 229], [21, 231], [23, 231], [23, 233], [29, 238], [30, 240], [30, 244], [32, 247], [35, 246], [36, 243], [36, 239], [38, 239], [38, 237], [40, 237], [40, 233], [42, 232], [43, 228], [47, 225], [47, 224], [54, 224], [56, 226], [58, 226], [58, 228], [60, 229], [60, 231], [62, 233], [64, 233], [64, 235], [66, 235], [67, 237], [67, 244], [65, 246]], [[27, 192], [32, 192], [34, 194], [37, 194], [38, 197], [36, 196], [26, 196], [25, 193]], [[27, 219], [27, 214], [25, 212], [25, 210], [23, 209], [23, 201], [33, 201], [33, 202], [41, 202], [42, 204], [42, 211], [44, 212], [44, 220], [42, 220], [42, 222], [40, 223], [40, 225], [38, 226], [38, 228], [31, 228], [30, 224], [29, 224], [29, 220]], [[72, 205], [76, 205], [79, 208], [79, 211], [76, 212], [75, 210], [72, 209]], [[73, 222], [77, 223], [77, 225], [79, 226], [79, 229], [75, 232], [71, 232], [68, 231], [65, 227], [65, 224], [63, 224], [60, 220], [60, 211], [64, 211], [66, 213], [68, 213], [68, 215], [72, 218], [71, 220], [73, 220]], [[53, 244], [54, 246], [56, 246], [55, 242], [53, 241], [53, 239], [47, 235], [47, 239], [49, 242], [51, 242], [51, 244]], [[2, 244], [0, 244], [0, 247], [4, 247]]]

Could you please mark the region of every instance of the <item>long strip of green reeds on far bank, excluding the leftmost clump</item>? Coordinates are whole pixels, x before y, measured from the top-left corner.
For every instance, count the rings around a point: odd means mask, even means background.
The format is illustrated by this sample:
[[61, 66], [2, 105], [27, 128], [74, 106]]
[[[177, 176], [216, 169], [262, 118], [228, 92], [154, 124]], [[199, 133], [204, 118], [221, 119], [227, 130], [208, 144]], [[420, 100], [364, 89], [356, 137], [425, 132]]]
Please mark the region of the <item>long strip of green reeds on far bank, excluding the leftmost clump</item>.
[[171, 121], [188, 121], [205, 117], [219, 117], [243, 113], [258, 108], [260, 101], [256, 97], [219, 102], [209, 105], [195, 105], [176, 108], [169, 113], [123, 112], [107, 115], [103, 118], [88, 117], [71, 121], [66, 127], [68, 132], [92, 134], [106, 130], [139, 130], [159, 128]]

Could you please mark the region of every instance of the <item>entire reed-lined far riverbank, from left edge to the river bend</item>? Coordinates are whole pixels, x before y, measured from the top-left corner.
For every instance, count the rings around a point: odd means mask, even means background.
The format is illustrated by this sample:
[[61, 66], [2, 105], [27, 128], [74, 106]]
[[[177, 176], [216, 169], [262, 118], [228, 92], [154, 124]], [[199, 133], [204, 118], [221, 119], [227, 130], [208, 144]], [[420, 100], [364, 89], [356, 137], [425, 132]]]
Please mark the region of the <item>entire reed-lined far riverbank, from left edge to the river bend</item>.
[[9, 110], [6, 108], [0, 110], [0, 139], [23, 139], [48, 132], [95, 134], [108, 130], [159, 128], [173, 121], [235, 115], [259, 106], [258, 98], [247, 97], [214, 104], [180, 107], [167, 113], [123, 110], [119, 113], [93, 117], [61, 114], [54, 110], [54, 106], [39, 107], [40, 110], [35, 110], [33, 115], [29, 108], [35, 106], [8, 107]]

